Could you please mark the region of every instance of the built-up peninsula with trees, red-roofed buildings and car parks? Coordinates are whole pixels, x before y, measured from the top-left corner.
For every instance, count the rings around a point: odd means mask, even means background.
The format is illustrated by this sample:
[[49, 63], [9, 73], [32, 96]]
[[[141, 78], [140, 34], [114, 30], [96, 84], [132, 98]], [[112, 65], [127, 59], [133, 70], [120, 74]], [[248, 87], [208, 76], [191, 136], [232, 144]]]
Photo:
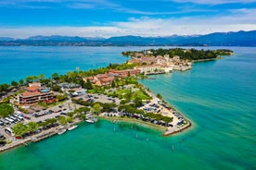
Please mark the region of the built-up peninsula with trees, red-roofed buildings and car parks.
[[81, 121], [97, 118], [133, 120], [161, 128], [168, 136], [191, 126], [191, 122], [160, 93], [153, 94], [137, 79], [173, 70], [186, 71], [193, 61], [233, 55], [230, 50], [149, 49], [123, 52], [124, 64], [109, 64], [65, 75], [28, 76], [0, 85], [0, 151], [38, 141], [76, 128]]

